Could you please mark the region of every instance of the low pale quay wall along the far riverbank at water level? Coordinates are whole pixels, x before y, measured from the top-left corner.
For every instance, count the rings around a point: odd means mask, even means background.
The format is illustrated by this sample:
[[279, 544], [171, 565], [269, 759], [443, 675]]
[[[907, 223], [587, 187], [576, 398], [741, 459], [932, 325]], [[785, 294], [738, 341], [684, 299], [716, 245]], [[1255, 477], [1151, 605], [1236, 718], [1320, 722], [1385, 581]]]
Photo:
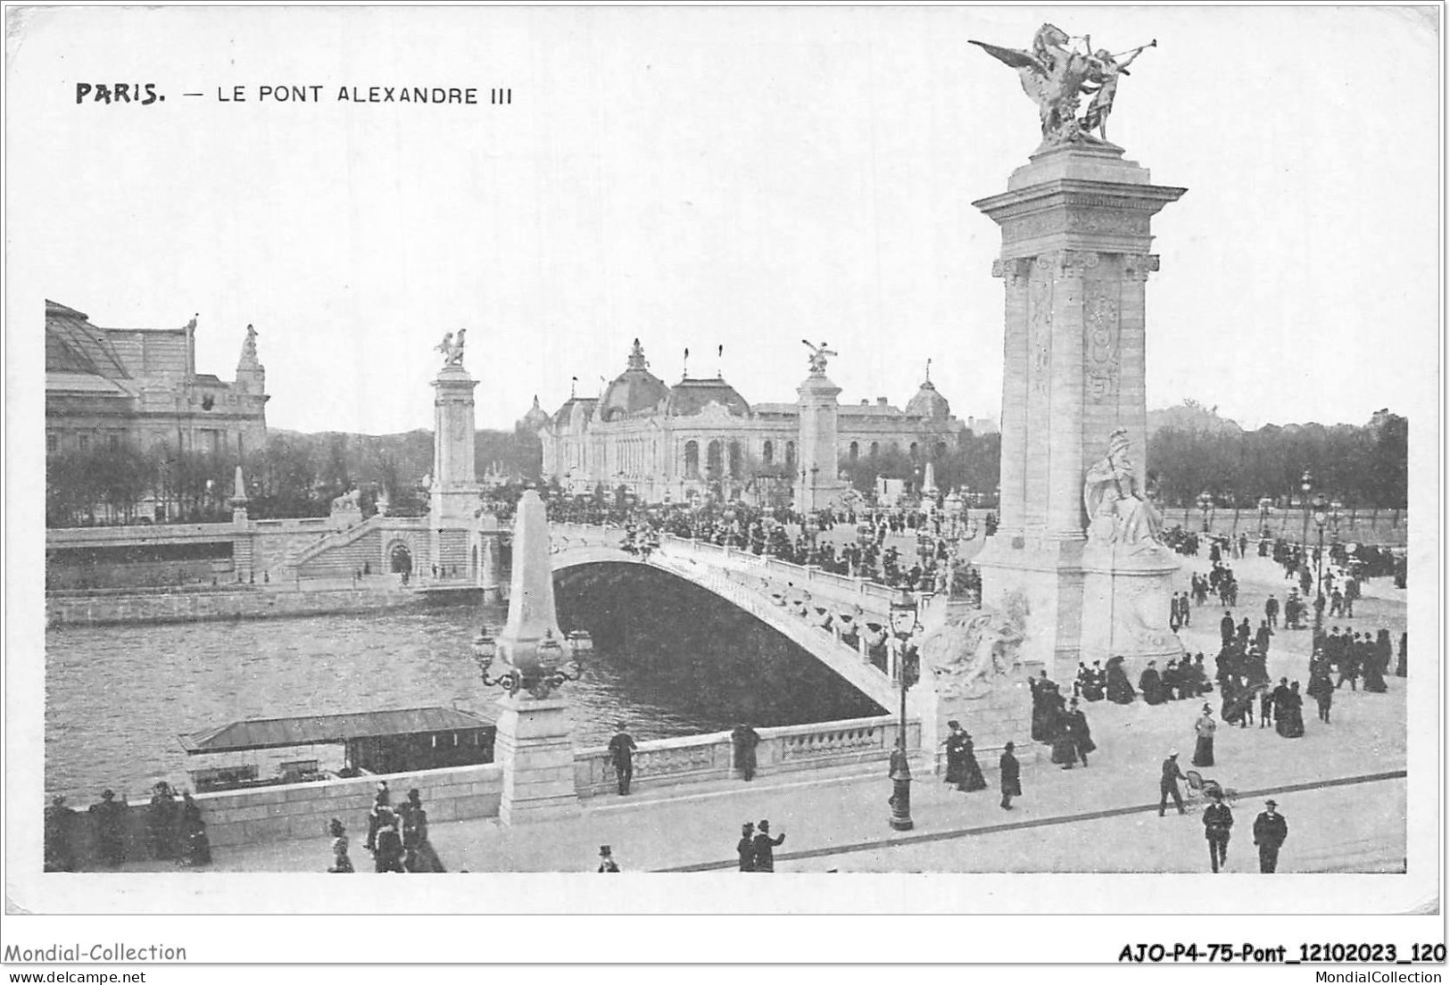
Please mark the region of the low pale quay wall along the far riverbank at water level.
[[374, 612], [419, 603], [416, 592], [381, 588], [281, 592], [235, 589], [212, 592], [86, 592], [45, 598], [46, 628], [119, 622], [197, 622], [268, 619], [335, 612]]

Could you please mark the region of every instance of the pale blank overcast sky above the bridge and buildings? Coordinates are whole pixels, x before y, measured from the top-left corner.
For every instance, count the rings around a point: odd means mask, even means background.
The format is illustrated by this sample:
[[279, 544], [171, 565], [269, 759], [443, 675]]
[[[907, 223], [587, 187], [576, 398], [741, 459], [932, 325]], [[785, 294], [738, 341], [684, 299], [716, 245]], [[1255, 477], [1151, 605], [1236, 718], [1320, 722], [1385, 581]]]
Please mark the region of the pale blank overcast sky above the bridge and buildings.
[[[223, 379], [254, 323], [268, 422], [302, 431], [431, 426], [431, 350], [463, 328], [480, 426], [596, 393], [635, 337], [667, 383], [689, 347], [751, 402], [795, 399], [803, 337], [844, 402], [900, 405], [932, 358], [958, 416], [996, 418], [1000, 239], [972, 202], [1040, 133], [967, 39], [1044, 20], [1159, 42], [1109, 125], [1188, 189], [1153, 222], [1148, 406], [1433, 411], [1440, 41], [1404, 9], [38, 12], [9, 36], [9, 373], [39, 379], [52, 297], [106, 326], [199, 312]], [[77, 106], [77, 81], [167, 99]], [[322, 102], [257, 102], [289, 84]]]

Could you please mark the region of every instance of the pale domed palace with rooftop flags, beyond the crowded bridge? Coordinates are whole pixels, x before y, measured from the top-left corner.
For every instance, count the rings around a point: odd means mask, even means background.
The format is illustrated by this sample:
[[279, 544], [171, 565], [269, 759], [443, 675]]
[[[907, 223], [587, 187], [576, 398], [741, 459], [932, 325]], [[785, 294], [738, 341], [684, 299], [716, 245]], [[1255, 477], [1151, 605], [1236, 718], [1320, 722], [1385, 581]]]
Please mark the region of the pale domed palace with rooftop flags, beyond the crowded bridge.
[[[644, 502], [713, 495], [766, 499], [798, 479], [798, 403], [750, 403], [724, 377], [667, 386], [639, 339], [599, 397], [570, 396], [541, 416], [544, 476], [574, 493], [624, 486]], [[928, 379], [902, 411], [886, 397], [837, 411], [841, 467], [889, 450], [925, 463], [956, 447], [967, 424]]]

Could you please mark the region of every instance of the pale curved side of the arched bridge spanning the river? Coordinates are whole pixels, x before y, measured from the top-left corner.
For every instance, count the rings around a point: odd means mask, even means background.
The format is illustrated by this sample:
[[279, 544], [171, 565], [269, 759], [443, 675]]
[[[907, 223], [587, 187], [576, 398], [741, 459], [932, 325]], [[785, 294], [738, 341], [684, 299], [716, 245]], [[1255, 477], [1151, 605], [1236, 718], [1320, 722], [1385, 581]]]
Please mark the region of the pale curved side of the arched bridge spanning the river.
[[[625, 532], [619, 528], [551, 524], [550, 535], [555, 572], [586, 564], [641, 564], [668, 572], [755, 617], [887, 711], [900, 702], [900, 653], [887, 631], [895, 593], [883, 585], [668, 534], [648, 557], [622, 550]], [[924, 598], [924, 627], [944, 618], [944, 603]], [[911, 717], [919, 717], [931, 704], [927, 691], [909, 692]]]

